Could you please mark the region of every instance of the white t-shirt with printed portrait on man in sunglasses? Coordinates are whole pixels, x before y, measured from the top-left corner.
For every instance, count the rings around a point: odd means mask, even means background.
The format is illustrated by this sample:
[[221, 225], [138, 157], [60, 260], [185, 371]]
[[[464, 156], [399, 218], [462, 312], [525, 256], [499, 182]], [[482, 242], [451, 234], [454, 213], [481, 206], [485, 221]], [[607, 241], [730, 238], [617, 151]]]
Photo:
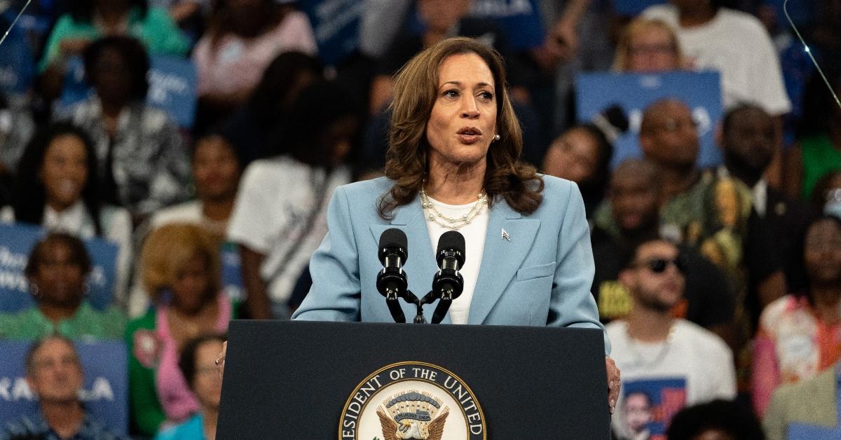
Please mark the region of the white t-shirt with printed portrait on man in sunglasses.
[[621, 371], [621, 394], [611, 418], [620, 438], [646, 430], [664, 433], [684, 406], [736, 396], [733, 353], [711, 331], [680, 319], [670, 342], [633, 340], [624, 320], [612, 321], [606, 331], [611, 358]]

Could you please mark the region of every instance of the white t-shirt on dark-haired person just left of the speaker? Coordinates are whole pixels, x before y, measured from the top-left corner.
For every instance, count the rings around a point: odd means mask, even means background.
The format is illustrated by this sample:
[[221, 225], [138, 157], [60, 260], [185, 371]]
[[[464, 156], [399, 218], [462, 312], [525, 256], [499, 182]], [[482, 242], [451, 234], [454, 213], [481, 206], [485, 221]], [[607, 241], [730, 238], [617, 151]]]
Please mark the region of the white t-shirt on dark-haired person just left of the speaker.
[[[309, 257], [327, 234], [331, 194], [350, 181], [347, 167], [328, 176], [287, 156], [251, 162], [246, 168], [228, 240], [266, 256], [260, 273], [275, 303], [289, 299]], [[324, 188], [321, 193], [319, 188]], [[314, 220], [308, 221], [316, 208]]]

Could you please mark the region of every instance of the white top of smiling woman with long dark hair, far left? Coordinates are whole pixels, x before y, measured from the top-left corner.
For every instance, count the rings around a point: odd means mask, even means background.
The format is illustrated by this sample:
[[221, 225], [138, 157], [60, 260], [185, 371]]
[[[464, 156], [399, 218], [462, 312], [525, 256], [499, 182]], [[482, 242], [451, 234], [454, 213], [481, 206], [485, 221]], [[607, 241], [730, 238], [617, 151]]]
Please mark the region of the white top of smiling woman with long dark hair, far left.
[[[15, 221], [14, 209], [11, 206], [0, 209], [0, 221], [3, 223]], [[114, 274], [114, 302], [126, 309], [130, 303], [128, 283], [132, 259], [131, 215], [124, 208], [102, 206], [99, 209], [99, 224], [103, 228], [103, 235], [99, 238], [112, 241], [118, 247], [117, 273]], [[55, 209], [45, 205], [41, 227], [47, 231], [65, 232], [82, 239], [97, 236], [93, 219], [87, 214], [82, 200], [61, 212], [56, 212]]]

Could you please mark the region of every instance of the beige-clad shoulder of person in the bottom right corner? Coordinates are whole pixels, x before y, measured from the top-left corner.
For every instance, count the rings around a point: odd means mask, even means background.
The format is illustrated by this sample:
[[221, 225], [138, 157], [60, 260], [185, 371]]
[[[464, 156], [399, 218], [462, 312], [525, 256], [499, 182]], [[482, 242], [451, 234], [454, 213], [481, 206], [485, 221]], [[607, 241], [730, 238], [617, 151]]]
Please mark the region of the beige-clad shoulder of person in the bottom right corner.
[[836, 363], [812, 379], [780, 386], [762, 420], [768, 440], [838, 438], [839, 373]]

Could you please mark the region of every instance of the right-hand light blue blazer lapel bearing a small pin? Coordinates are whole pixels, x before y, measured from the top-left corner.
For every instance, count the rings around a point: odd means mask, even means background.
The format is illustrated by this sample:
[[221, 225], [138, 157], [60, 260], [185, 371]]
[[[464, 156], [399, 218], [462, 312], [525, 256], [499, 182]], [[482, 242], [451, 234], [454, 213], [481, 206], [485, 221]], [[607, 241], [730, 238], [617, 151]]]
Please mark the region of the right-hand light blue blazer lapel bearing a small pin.
[[[468, 324], [484, 323], [532, 249], [539, 228], [540, 220], [521, 218], [519, 212], [505, 203], [505, 199], [500, 199], [490, 209], [482, 265], [470, 303]], [[507, 239], [502, 234], [503, 230], [507, 232]]]

